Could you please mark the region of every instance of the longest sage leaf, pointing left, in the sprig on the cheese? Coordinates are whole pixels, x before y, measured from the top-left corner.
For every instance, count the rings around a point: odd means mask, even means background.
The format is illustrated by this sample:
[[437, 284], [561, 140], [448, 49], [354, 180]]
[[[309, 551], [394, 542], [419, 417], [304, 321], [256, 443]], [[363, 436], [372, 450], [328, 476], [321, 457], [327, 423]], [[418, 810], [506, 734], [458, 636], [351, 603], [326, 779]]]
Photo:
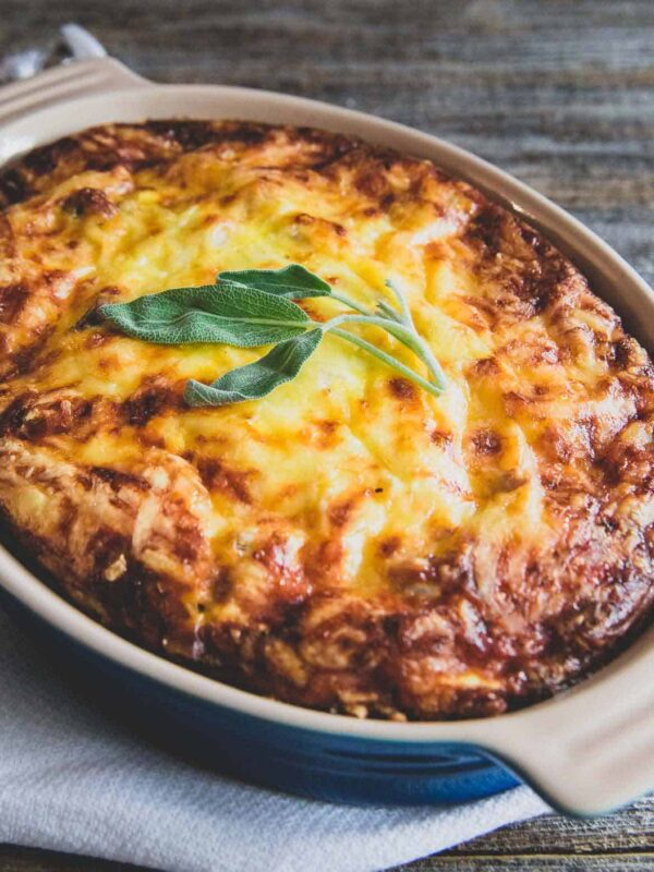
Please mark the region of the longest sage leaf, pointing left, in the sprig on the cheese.
[[168, 346], [254, 348], [303, 334], [311, 318], [283, 296], [243, 284], [205, 284], [108, 303], [100, 314], [128, 336]]

